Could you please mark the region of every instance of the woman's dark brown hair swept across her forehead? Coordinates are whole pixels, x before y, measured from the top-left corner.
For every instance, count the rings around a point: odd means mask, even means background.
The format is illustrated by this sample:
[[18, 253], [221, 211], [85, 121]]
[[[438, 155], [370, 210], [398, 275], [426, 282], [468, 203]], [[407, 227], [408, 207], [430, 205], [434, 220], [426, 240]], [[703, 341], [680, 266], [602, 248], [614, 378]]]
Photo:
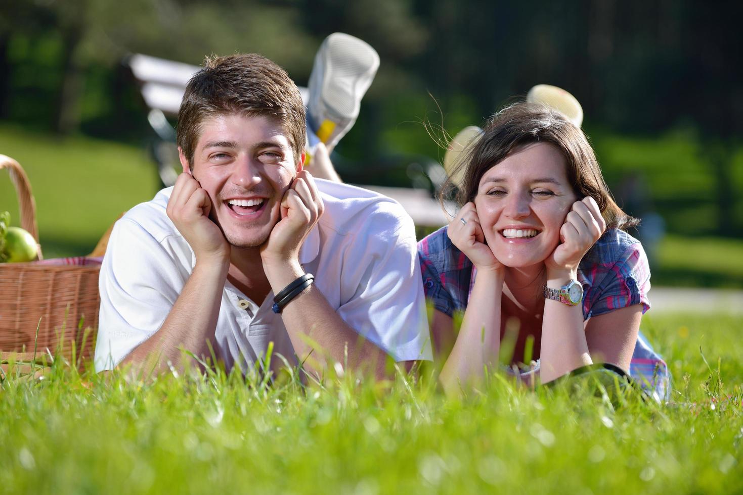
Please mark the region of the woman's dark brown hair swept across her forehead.
[[[483, 135], [462, 154], [457, 165], [464, 171], [457, 202], [464, 205], [473, 201], [485, 172], [509, 154], [535, 142], [551, 144], [565, 157], [568, 181], [574, 193], [579, 200], [587, 196], [596, 200], [607, 229], [627, 229], [639, 223], [614, 202], [583, 131], [559, 111], [539, 103], [516, 103], [490, 118]], [[452, 186], [451, 180], [448, 182]]]

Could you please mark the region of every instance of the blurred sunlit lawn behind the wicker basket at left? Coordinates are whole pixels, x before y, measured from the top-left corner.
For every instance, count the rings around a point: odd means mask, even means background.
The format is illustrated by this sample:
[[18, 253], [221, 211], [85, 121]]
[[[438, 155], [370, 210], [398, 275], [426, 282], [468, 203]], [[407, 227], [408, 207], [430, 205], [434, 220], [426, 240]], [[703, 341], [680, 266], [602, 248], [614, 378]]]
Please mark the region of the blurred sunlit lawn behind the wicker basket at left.
[[[85, 255], [124, 211], [158, 190], [144, 147], [87, 137], [55, 138], [0, 123], [0, 154], [18, 160], [36, 198], [46, 258]], [[0, 174], [0, 210], [19, 225], [18, 200]]]

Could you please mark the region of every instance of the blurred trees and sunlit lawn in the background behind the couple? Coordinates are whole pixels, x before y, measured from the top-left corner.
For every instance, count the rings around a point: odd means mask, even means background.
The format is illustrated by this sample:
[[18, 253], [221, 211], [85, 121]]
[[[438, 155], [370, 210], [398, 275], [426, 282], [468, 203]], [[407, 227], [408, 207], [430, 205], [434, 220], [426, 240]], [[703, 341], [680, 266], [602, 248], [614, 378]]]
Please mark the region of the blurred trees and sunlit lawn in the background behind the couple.
[[[0, 6], [0, 152], [25, 167], [47, 258], [84, 255], [158, 176], [122, 60], [263, 53], [306, 85], [335, 31], [381, 65], [334, 161], [346, 180], [430, 186], [444, 134], [536, 84], [570, 91], [617, 202], [663, 219], [653, 282], [743, 288], [739, 2], [22, 0]], [[0, 180], [0, 209], [17, 223]], [[651, 220], [652, 221], [652, 220]]]

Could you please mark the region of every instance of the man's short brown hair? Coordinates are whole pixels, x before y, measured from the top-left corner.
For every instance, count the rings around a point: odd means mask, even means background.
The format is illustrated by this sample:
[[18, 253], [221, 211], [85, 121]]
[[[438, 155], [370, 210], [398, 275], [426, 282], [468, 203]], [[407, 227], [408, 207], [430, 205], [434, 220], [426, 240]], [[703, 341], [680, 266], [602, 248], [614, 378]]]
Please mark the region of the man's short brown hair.
[[192, 169], [201, 124], [223, 114], [276, 119], [287, 134], [295, 160], [305, 149], [305, 105], [299, 88], [265, 56], [207, 57], [204, 68], [189, 80], [178, 110], [177, 141]]

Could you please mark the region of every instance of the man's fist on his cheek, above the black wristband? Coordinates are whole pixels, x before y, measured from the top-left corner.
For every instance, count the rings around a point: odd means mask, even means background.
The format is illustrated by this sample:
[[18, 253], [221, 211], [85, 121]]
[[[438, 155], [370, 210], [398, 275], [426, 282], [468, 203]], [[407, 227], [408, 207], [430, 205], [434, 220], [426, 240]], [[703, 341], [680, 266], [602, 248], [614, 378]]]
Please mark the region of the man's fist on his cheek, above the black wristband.
[[312, 175], [306, 170], [299, 172], [282, 198], [279, 222], [261, 246], [269, 281], [270, 272], [276, 268], [286, 264], [299, 266], [299, 249], [324, 209]]

